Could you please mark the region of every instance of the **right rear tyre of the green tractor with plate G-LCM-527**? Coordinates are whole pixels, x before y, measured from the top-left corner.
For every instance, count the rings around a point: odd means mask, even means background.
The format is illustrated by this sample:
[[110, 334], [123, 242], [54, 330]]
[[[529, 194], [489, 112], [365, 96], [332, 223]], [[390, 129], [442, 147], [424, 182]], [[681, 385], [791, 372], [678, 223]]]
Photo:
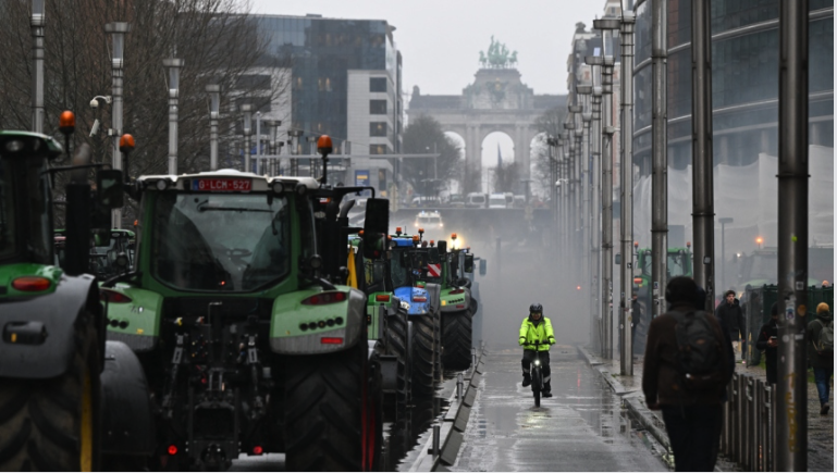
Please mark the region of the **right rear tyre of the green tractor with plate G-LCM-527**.
[[380, 371], [367, 360], [366, 341], [346, 351], [294, 358], [285, 383], [286, 470], [378, 468]]

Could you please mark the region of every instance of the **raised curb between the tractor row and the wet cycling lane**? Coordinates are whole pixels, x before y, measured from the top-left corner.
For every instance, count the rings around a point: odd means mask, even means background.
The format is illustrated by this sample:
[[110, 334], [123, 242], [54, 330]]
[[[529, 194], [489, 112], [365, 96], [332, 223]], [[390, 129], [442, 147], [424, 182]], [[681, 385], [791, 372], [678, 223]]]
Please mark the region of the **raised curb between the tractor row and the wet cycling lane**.
[[461, 401], [456, 399], [456, 393], [451, 395], [448, 399], [450, 407], [442, 415], [442, 423], [440, 425], [439, 456], [436, 457], [432, 453], [433, 436], [431, 435], [422, 447], [421, 451], [424, 453], [416, 459], [409, 471], [450, 471], [446, 466], [451, 466], [456, 462], [459, 448], [465, 439], [465, 427], [468, 425], [471, 407], [473, 407], [473, 401], [477, 398], [477, 389], [485, 369], [482, 362], [483, 354], [484, 349], [479, 351], [477, 364], [470, 372], [470, 377], [467, 376], [467, 371], [463, 372], [463, 381], [466, 388]]

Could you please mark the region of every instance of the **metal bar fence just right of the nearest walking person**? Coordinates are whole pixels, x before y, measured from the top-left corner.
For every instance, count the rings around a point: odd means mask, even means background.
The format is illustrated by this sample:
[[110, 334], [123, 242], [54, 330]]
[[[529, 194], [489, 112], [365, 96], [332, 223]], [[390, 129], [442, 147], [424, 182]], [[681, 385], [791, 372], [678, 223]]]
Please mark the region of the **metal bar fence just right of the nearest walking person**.
[[727, 386], [721, 453], [744, 471], [776, 471], [776, 390], [735, 373]]

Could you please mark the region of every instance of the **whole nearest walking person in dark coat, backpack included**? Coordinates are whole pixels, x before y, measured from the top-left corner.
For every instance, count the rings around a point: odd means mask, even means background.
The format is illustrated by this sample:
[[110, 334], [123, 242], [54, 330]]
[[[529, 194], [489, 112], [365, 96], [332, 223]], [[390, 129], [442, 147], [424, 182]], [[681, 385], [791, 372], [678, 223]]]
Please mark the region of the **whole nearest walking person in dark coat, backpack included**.
[[645, 402], [663, 412], [675, 471], [714, 470], [722, 399], [731, 377], [721, 324], [696, 310], [698, 290], [690, 277], [668, 283], [669, 308], [651, 321], [642, 368]]

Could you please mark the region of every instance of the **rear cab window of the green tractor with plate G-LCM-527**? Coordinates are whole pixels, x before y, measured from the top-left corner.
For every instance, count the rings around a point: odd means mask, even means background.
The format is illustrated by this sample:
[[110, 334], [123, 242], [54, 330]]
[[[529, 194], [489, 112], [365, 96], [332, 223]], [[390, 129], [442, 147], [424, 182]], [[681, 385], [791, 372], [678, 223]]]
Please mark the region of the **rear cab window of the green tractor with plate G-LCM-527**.
[[175, 288], [253, 291], [291, 271], [291, 211], [263, 194], [162, 192], [152, 274]]

